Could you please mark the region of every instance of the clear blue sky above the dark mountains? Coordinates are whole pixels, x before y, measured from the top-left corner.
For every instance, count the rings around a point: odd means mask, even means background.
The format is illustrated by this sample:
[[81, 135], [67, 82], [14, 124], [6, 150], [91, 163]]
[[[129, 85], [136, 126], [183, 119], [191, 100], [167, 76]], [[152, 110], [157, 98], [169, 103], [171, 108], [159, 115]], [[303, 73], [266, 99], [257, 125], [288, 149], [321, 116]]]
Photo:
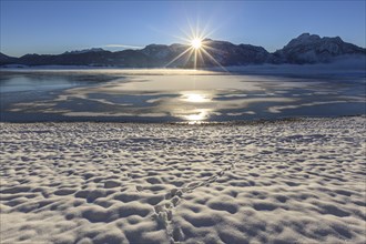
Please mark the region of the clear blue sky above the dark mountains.
[[1, 52], [70, 50], [184, 42], [189, 26], [211, 39], [283, 48], [303, 32], [339, 35], [365, 48], [365, 0], [346, 1], [1, 1]]

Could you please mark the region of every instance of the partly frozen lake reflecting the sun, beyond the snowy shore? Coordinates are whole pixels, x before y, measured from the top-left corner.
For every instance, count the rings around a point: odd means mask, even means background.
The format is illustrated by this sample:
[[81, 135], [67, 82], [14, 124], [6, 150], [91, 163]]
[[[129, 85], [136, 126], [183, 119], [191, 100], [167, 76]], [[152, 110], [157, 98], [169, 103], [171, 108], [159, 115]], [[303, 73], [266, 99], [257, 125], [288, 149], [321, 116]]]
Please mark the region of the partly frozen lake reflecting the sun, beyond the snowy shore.
[[2, 70], [1, 121], [199, 122], [365, 114], [365, 75]]

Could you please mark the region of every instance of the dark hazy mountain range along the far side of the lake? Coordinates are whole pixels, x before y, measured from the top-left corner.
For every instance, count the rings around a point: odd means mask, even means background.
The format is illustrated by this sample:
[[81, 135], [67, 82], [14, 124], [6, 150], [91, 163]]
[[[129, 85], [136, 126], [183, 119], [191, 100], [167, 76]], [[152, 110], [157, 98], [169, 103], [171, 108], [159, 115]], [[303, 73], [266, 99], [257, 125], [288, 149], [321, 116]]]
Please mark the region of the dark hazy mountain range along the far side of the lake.
[[[344, 42], [339, 37], [321, 38], [317, 34], [303, 33], [291, 40], [283, 49], [270, 53], [262, 47], [233, 44], [227, 41], [205, 39], [205, 51], [196, 61], [197, 67], [247, 65], [262, 63], [326, 63], [339, 57], [366, 57], [366, 49]], [[128, 68], [192, 68], [194, 55], [182, 54], [186, 44], [150, 44], [140, 50], [111, 52], [100, 48], [64, 52], [62, 54], [26, 54], [13, 58], [0, 52], [0, 65], [90, 65]], [[173, 61], [174, 60], [174, 61]], [[173, 61], [173, 62], [172, 62]]]

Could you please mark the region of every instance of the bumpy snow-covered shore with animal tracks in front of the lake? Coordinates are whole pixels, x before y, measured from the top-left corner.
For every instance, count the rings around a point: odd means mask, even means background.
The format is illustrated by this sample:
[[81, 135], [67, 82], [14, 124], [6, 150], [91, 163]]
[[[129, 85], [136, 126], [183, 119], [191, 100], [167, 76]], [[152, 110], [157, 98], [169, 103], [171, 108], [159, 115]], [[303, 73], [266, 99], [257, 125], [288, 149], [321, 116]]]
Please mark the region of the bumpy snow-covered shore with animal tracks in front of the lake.
[[365, 123], [2, 123], [1, 243], [365, 243]]

